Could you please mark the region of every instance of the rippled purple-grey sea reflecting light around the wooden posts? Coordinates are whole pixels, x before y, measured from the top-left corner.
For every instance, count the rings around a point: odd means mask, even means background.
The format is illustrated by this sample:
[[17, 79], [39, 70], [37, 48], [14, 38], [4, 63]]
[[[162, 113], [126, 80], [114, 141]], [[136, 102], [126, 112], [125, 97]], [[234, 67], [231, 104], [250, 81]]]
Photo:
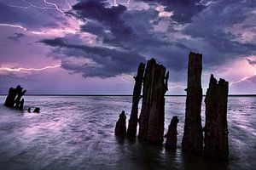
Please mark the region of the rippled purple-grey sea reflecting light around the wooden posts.
[[[185, 96], [167, 96], [165, 133], [178, 116], [177, 150], [114, 136], [115, 123], [131, 96], [25, 96], [25, 111], [3, 105], [0, 96], [0, 169], [256, 169], [256, 97], [229, 97], [230, 160], [205, 161], [183, 154]], [[40, 107], [40, 113], [28, 113]], [[140, 106], [141, 107], [141, 104]], [[202, 125], [205, 105], [202, 102]]]

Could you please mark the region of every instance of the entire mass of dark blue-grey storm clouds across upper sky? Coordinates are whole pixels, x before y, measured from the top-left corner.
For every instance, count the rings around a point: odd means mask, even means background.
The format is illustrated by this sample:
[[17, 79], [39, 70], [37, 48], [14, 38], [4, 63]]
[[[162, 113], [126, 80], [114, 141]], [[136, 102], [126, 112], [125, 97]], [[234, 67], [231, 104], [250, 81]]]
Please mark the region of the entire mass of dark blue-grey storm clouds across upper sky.
[[[65, 50], [66, 55], [90, 56], [89, 58], [93, 59], [97, 66], [104, 65], [102, 60], [96, 60], [106, 58], [102, 56], [111, 56], [114, 60], [119, 57], [118, 54], [124, 56], [131, 54], [147, 59], [156, 58], [169, 70], [177, 72], [184, 71], [187, 67], [187, 57], [191, 50], [203, 54], [207, 69], [256, 52], [255, 42], [241, 42], [239, 39], [241, 36], [230, 30], [237, 24], [242, 25], [253, 10], [255, 6], [253, 3], [231, 0], [213, 3], [189, 0], [158, 1], [158, 4], [166, 6], [166, 10], [174, 12], [170, 18], [160, 17], [155, 2], [150, 0], [143, 2], [152, 5], [147, 9], [139, 10], [126, 8], [123, 5], [109, 6], [106, 1], [93, 0], [81, 1], [73, 5], [73, 9], [68, 14], [84, 20], [85, 24], [81, 26], [81, 31], [96, 35], [97, 41], [101, 42], [104, 48], [79, 46], [77, 43], [74, 45], [73, 42], [63, 38], [47, 39], [42, 42], [55, 48], [68, 48]], [[247, 26], [250, 25], [247, 23]], [[79, 49], [79, 52], [73, 50], [74, 48]], [[59, 52], [63, 53], [63, 50]], [[134, 63], [137, 62], [128, 62], [127, 68], [134, 68], [132, 71], [135, 71], [137, 65]], [[100, 71], [101, 67], [96, 65], [85, 65], [86, 69], [81, 67], [75, 69], [76, 65], [67, 65], [67, 62], [63, 65], [66, 65], [63, 68], [84, 72], [87, 76], [100, 76], [102, 73], [102, 77], [110, 77], [111, 74], [115, 76], [121, 72], [113, 70], [113, 65], [102, 66], [104, 71]], [[111, 71], [107, 71], [108, 68]], [[124, 72], [129, 71], [131, 70], [126, 69]]]

